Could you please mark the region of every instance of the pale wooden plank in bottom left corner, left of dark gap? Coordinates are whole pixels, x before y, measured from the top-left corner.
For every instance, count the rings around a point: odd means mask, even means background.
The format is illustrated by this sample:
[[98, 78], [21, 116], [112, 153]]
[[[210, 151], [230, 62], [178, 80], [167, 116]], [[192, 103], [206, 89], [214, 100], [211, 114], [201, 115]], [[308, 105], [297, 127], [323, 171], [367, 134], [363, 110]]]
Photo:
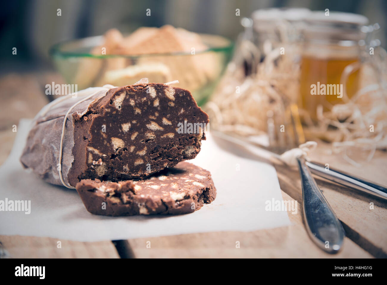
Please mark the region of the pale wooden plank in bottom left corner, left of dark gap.
[[75, 242], [48, 237], [24, 237], [20, 235], [0, 235], [6, 258], [120, 258], [110, 241]]

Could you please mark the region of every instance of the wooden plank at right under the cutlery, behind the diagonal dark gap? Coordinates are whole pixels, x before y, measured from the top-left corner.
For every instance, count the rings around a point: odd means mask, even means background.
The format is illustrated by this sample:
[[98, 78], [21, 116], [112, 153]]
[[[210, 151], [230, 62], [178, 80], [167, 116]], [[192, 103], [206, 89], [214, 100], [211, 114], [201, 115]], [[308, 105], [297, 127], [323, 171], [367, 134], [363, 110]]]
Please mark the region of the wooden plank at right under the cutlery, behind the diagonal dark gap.
[[[381, 184], [387, 184], [385, 175], [385, 152], [377, 151], [371, 163], [365, 163], [362, 168], [348, 165], [340, 156], [326, 155], [326, 146], [313, 152], [312, 160], [329, 163], [330, 167], [345, 169], [363, 178]], [[284, 165], [275, 165], [281, 189], [293, 199], [302, 202], [301, 181], [297, 169]], [[366, 251], [375, 257], [387, 257], [387, 203], [381, 199], [361, 194], [346, 187], [315, 177], [325, 198], [344, 223], [348, 237], [356, 241]], [[373, 203], [373, 209], [370, 209]]]

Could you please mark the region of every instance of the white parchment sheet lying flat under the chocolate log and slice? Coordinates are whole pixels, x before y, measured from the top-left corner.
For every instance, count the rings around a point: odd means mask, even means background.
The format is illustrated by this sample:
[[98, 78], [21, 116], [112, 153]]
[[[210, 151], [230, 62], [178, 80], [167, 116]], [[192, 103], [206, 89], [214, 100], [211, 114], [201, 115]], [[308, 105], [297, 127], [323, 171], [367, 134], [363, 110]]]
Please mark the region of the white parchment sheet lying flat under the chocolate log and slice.
[[0, 200], [31, 200], [31, 213], [0, 211], [0, 235], [99, 241], [290, 225], [287, 212], [265, 211], [266, 201], [282, 201], [274, 167], [220, 148], [211, 134], [189, 162], [211, 172], [217, 190], [214, 202], [179, 216], [92, 215], [75, 190], [43, 182], [22, 168], [19, 157], [30, 122], [20, 121], [12, 152], [0, 167]]

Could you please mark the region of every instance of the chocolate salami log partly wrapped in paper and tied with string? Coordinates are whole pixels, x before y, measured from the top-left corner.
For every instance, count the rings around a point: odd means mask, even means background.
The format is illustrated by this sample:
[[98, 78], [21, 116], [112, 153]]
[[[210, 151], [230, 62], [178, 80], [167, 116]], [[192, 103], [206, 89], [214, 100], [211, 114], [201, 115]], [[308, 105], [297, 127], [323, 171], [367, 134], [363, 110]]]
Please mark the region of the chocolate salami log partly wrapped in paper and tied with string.
[[199, 153], [209, 120], [189, 91], [159, 83], [111, 87], [43, 108], [21, 156], [24, 167], [73, 188], [81, 179], [144, 178]]

